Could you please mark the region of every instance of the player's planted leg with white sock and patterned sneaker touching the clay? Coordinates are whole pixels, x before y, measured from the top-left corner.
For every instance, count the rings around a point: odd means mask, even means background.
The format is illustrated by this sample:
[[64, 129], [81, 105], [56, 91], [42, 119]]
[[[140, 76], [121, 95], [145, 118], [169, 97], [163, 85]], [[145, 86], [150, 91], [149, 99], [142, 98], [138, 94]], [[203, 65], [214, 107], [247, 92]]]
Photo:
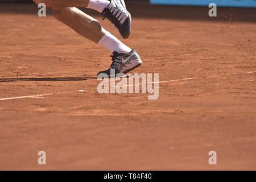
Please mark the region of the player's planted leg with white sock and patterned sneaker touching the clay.
[[78, 32], [85, 38], [100, 44], [113, 52], [110, 68], [99, 73], [110, 75], [111, 69], [117, 73], [127, 73], [142, 64], [138, 53], [127, 47], [110, 32], [101, 27], [101, 24], [91, 16], [76, 7], [52, 7], [53, 15]]

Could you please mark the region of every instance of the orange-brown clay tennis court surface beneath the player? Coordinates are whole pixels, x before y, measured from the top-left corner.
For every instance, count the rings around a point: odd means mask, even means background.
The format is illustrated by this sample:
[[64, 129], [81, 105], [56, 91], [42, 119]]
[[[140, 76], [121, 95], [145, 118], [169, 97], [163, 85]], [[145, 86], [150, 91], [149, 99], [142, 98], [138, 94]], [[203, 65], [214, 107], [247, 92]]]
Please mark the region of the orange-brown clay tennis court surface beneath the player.
[[127, 6], [123, 42], [144, 61], [134, 72], [168, 81], [158, 100], [99, 94], [110, 52], [50, 13], [39, 18], [36, 5], [0, 4], [0, 169], [256, 169], [255, 10], [218, 20], [204, 8]]

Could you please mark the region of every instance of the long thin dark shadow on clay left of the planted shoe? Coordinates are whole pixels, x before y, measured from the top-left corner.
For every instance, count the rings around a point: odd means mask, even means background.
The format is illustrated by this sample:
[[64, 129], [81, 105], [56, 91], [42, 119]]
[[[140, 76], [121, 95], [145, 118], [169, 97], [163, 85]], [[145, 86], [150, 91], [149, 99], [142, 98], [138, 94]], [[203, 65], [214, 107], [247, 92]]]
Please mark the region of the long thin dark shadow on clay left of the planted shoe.
[[0, 82], [12, 81], [85, 81], [97, 77], [44, 77], [44, 78], [0, 78]]

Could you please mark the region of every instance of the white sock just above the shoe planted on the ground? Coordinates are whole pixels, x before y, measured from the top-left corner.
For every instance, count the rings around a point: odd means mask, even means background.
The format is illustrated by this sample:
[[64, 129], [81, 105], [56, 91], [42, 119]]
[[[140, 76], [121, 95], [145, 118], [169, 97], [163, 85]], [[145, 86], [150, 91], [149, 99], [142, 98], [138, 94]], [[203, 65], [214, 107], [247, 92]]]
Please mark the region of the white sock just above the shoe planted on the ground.
[[129, 53], [131, 52], [131, 48], [127, 47], [120, 40], [118, 40], [114, 35], [106, 32], [104, 36], [102, 36], [100, 42], [98, 42], [101, 46], [105, 47], [111, 52], [117, 51], [119, 53]]

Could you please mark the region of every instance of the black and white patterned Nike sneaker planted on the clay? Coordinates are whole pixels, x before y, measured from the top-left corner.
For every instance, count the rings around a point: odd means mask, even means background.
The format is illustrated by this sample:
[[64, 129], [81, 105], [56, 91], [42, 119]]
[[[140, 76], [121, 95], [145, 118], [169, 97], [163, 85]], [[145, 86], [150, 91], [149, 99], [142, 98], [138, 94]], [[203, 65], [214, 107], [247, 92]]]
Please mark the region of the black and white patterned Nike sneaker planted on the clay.
[[98, 72], [98, 75], [101, 73], [105, 73], [108, 76], [116, 76], [118, 73], [125, 74], [142, 65], [141, 57], [134, 50], [131, 50], [129, 53], [118, 53], [115, 51], [110, 57], [112, 57], [113, 61], [110, 68], [106, 71]]

